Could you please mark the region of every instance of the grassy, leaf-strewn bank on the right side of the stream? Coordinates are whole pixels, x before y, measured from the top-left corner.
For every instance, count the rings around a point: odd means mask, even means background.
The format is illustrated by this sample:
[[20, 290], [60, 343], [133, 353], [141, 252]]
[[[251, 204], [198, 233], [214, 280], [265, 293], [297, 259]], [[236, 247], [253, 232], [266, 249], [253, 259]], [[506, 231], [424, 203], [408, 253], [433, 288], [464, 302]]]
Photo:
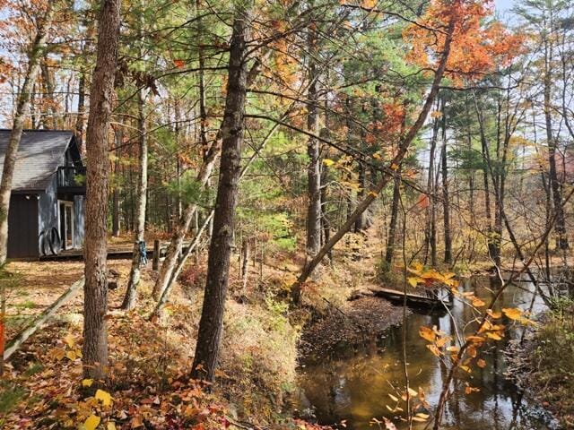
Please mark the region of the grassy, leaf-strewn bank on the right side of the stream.
[[509, 375], [552, 413], [561, 428], [574, 428], [574, 302], [563, 300], [541, 317], [522, 344], [509, 348]]

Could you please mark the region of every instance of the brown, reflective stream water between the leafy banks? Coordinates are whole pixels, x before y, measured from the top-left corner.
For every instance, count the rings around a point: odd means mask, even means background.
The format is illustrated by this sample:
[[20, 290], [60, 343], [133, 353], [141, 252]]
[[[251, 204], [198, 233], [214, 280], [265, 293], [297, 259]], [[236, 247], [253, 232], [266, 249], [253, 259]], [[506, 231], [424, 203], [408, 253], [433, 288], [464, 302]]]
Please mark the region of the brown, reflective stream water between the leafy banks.
[[[475, 277], [465, 281], [463, 288], [474, 291], [486, 303], [500, 284], [489, 277]], [[526, 282], [505, 289], [497, 308], [520, 307], [527, 309], [533, 298], [534, 287]], [[533, 314], [544, 310], [542, 300], [536, 299]], [[421, 387], [426, 400], [433, 408], [438, 400], [443, 380], [448, 369], [426, 348], [427, 341], [419, 336], [422, 325], [436, 325], [455, 337], [455, 324], [463, 330], [465, 323], [473, 319], [468, 306], [456, 300], [447, 313], [413, 312], [406, 321], [406, 352], [410, 385], [415, 390]], [[453, 321], [454, 320], [454, 321]], [[506, 324], [503, 340], [486, 344], [481, 351], [487, 366], [474, 366], [472, 374], [465, 378], [471, 386], [480, 391], [465, 394], [464, 382], [448, 401], [444, 414], [443, 428], [478, 430], [510, 429], [553, 429], [547, 414], [532, 400], [517, 391], [516, 386], [504, 376], [506, 371], [503, 349], [509, 340], [517, 339], [523, 328], [509, 321]], [[468, 331], [470, 332], [470, 328]], [[377, 428], [370, 426], [371, 418], [396, 418], [386, 405], [394, 408], [395, 403], [388, 396], [396, 395], [393, 387], [404, 387], [403, 370], [403, 329], [393, 327], [378, 340], [361, 348], [347, 350], [338, 357], [325, 357], [313, 363], [302, 364], [299, 374], [300, 409], [311, 411], [319, 424], [339, 425], [340, 428], [362, 430]], [[344, 422], [344, 426], [339, 423]], [[400, 420], [394, 419], [398, 429], [407, 428]], [[413, 423], [419, 429], [424, 423]]]

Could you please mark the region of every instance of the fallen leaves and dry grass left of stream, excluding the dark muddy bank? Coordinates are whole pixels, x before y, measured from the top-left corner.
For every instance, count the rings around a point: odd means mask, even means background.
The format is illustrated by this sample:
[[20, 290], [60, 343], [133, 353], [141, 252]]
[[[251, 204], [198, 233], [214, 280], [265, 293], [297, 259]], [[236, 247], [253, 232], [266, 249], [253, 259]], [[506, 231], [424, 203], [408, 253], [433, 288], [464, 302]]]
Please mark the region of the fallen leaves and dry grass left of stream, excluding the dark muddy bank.
[[[265, 298], [261, 288], [236, 291], [241, 282], [233, 279], [217, 383], [208, 393], [189, 380], [203, 265], [197, 273], [187, 273], [196, 286], [175, 288], [166, 317], [152, 323], [154, 273], [149, 267], [143, 271], [140, 305], [126, 314], [117, 306], [129, 262], [110, 262], [118, 288], [109, 291], [109, 382], [99, 387], [82, 377], [80, 293], [8, 363], [0, 383], [0, 428], [319, 428], [282, 415], [282, 384], [289, 386], [295, 377], [298, 331], [289, 323], [286, 307]], [[21, 277], [9, 297], [8, 338], [82, 276], [83, 263], [17, 262], [12, 269]], [[265, 271], [264, 280], [265, 288], [280, 286], [283, 274]], [[253, 285], [263, 285], [257, 282]]]

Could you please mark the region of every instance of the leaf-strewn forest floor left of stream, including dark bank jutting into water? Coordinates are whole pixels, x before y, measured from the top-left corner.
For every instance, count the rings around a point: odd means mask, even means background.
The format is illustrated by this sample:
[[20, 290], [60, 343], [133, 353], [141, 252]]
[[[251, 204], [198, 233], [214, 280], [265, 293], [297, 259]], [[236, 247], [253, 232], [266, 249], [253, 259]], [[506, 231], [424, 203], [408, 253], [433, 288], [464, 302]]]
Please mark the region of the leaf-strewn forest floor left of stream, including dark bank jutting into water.
[[[290, 310], [288, 287], [301, 257], [265, 256], [249, 264], [247, 288], [235, 258], [217, 382], [211, 394], [187, 378], [201, 313], [205, 262], [189, 265], [174, 288], [166, 316], [148, 321], [156, 273], [143, 268], [138, 307], [118, 310], [129, 261], [109, 262], [117, 288], [109, 290], [109, 391], [113, 401], [85, 397], [81, 345], [83, 293], [20, 348], [0, 384], [0, 428], [82, 428], [91, 417], [114, 428], [316, 428], [290, 418], [296, 405], [298, 359], [327, 355], [341, 345], [398, 323], [402, 309], [375, 297], [348, 301], [353, 292], [377, 284], [376, 235], [350, 235], [303, 291], [303, 305]], [[53, 303], [83, 275], [83, 262], [11, 262], [6, 338]], [[376, 318], [373, 318], [373, 315]], [[302, 333], [302, 340], [300, 341]], [[243, 424], [241, 424], [243, 423]], [[85, 428], [90, 428], [85, 426]]]

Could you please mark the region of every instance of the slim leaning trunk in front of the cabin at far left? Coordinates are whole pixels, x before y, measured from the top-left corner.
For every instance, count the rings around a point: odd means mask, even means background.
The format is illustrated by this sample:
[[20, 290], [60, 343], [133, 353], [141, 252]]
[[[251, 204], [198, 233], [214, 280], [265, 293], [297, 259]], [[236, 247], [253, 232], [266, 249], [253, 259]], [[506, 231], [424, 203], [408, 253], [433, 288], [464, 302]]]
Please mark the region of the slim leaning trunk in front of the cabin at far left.
[[2, 180], [0, 181], [0, 266], [4, 265], [8, 254], [8, 212], [10, 211], [10, 195], [12, 193], [16, 157], [20, 141], [22, 140], [24, 120], [30, 107], [30, 93], [39, 73], [39, 60], [44, 55], [48, 28], [51, 25], [53, 13], [53, 2], [48, 2], [46, 13], [39, 20], [36, 37], [30, 46], [28, 68], [26, 69], [22, 89], [16, 102], [12, 132], [4, 153], [4, 168], [2, 169]]

